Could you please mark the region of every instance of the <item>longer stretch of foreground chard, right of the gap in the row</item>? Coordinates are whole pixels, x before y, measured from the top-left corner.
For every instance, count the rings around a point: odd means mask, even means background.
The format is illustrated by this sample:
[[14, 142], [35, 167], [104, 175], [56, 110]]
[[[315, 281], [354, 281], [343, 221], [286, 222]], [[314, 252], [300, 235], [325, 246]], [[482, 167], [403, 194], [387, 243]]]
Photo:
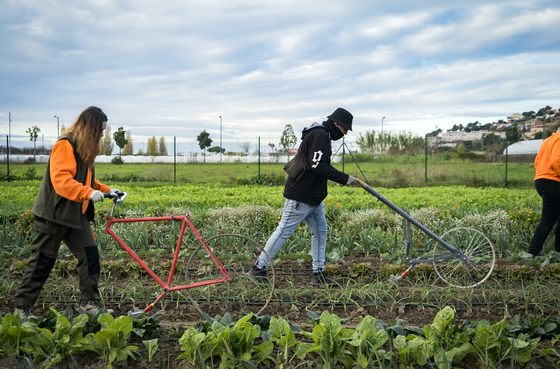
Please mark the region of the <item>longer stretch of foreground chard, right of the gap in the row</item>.
[[[322, 368], [395, 368], [437, 367], [447, 369], [472, 355], [484, 367], [511, 367], [524, 364], [535, 356], [560, 357], [553, 348], [538, 347], [542, 338], [553, 338], [560, 332], [558, 319], [521, 320], [519, 315], [508, 324], [502, 320], [488, 322], [464, 321], [455, 324], [455, 311], [447, 306], [437, 313], [433, 323], [423, 329], [403, 326], [402, 319], [391, 324], [366, 316], [357, 328], [346, 329], [347, 319], [324, 311], [320, 316], [308, 311], [314, 328], [306, 332], [282, 317], [240, 314], [236, 322], [230, 313], [199, 322], [188, 328], [179, 340], [183, 354], [193, 367], [204, 367], [214, 358], [221, 359], [220, 368], [235, 368], [251, 364], [269, 365], [276, 362], [282, 368], [296, 357], [308, 366]], [[378, 328], [379, 327], [379, 328]], [[298, 341], [296, 334], [312, 341]], [[255, 339], [263, 343], [255, 345]], [[278, 346], [272, 357], [274, 344]], [[213, 366], [213, 365], [212, 365]], [[249, 366], [247, 366], [249, 367]]]

